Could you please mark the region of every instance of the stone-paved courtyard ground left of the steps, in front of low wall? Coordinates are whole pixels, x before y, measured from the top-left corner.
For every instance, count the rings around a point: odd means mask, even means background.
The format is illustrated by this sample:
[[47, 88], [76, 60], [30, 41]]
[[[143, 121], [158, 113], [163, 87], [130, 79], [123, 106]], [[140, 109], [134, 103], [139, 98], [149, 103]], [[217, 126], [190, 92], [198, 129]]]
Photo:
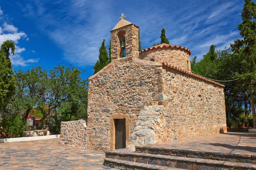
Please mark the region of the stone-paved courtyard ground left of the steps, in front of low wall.
[[59, 139], [0, 144], [0, 170], [113, 170], [105, 153], [61, 145]]

